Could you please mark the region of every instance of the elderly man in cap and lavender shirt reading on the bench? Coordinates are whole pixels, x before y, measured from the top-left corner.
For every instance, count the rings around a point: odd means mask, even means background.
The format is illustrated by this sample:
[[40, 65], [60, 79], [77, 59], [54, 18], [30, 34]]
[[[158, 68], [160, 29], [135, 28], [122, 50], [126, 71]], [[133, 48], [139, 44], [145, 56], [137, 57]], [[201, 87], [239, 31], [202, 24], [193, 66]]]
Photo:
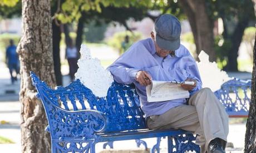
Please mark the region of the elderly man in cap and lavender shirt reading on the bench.
[[[118, 83], [135, 84], [150, 129], [193, 131], [201, 152], [225, 152], [228, 115], [209, 88], [201, 89], [198, 68], [180, 44], [180, 32], [179, 20], [163, 14], [156, 19], [151, 38], [133, 44], [107, 69]], [[189, 99], [149, 103], [146, 85], [151, 80], [189, 80], [194, 85], [181, 85], [189, 91]]]

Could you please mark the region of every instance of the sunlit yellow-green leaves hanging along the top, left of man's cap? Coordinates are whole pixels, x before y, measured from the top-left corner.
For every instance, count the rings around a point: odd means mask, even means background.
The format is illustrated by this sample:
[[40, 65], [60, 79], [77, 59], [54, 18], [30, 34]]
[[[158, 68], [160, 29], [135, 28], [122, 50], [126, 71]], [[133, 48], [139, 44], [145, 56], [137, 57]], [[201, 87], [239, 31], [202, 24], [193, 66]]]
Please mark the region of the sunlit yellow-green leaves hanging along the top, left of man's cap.
[[[166, 11], [169, 10], [170, 6], [165, 0], [66, 0], [62, 6], [61, 12], [57, 12], [55, 17], [60, 19], [61, 22], [67, 23], [72, 21], [78, 21], [78, 19], [82, 16], [83, 12], [94, 11], [101, 13], [102, 8], [106, 7], [114, 7], [114, 8], [131, 8], [136, 7], [141, 9], [141, 11], [146, 12], [150, 9], [158, 9], [165, 6]], [[176, 4], [177, 5], [177, 4]], [[172, 5], [175, 6], [175, 5]], [[179, 9], [179, 8], [178, 8]], [[178, 10], [177, 9], [177, 10]], [[166, 12], [165, 11], [165, 12]], [[177, 11], [174, 11], [177, 12]], [[118, 15], [124, 14], [120, 12]], [[88, 15], [88, 14], [87, 14]], [[89, 15], [90, 16], [90, 15]], [[117, 14], [114, 14], [115, 17]]]

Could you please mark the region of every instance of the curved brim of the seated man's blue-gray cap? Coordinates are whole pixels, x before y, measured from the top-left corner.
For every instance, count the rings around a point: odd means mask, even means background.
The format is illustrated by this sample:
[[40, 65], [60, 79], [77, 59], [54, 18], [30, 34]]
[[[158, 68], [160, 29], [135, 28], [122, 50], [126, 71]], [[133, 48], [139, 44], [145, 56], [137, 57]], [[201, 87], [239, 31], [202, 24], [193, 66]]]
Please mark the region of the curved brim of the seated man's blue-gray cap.
[[166, 50], [177, 50], [180, 47], [180, 38], [175, 40], [165, 40], [156, 34], [156, 44], [159, 45], [160, 48]]

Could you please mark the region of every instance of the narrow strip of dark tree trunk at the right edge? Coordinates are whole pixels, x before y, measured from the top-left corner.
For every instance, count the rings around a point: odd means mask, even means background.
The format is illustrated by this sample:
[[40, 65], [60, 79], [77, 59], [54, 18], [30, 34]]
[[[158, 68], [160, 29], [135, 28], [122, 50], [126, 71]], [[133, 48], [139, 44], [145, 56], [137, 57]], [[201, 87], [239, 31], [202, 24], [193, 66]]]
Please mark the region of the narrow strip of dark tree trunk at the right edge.
[[[256, 40], [256, 34], [255, 34]], [[246, 124], [244, 152], [256, 152], [256, 41], [254, 40], [253, 49], [253, 75], [252, 75], [252, 93], [250, 100], [249, 117]]]

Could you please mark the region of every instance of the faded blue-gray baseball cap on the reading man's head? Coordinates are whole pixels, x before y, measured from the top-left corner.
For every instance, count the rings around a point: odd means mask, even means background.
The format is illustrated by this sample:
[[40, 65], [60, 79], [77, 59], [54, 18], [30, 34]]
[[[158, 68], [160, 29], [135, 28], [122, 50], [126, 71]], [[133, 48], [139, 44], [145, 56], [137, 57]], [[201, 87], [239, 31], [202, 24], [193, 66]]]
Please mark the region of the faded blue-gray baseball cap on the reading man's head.
[[178, 18], [171, 14], [163, 14], [155, 21], [156, 44], [166, 50], [180, 47], [181, 26]]

